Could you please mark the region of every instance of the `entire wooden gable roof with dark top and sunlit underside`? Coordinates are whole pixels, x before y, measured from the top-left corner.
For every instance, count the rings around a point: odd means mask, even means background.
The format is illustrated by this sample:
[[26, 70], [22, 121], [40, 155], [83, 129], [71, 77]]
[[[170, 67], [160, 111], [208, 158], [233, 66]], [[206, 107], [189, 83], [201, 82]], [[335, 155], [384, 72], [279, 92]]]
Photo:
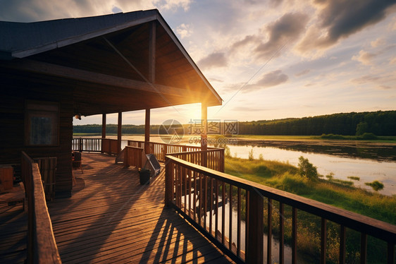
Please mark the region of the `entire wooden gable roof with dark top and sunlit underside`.
[[75, 113], [222, 102], [157, 10], [0, 22], [0, 35], [1, 70], [62, 82]]

